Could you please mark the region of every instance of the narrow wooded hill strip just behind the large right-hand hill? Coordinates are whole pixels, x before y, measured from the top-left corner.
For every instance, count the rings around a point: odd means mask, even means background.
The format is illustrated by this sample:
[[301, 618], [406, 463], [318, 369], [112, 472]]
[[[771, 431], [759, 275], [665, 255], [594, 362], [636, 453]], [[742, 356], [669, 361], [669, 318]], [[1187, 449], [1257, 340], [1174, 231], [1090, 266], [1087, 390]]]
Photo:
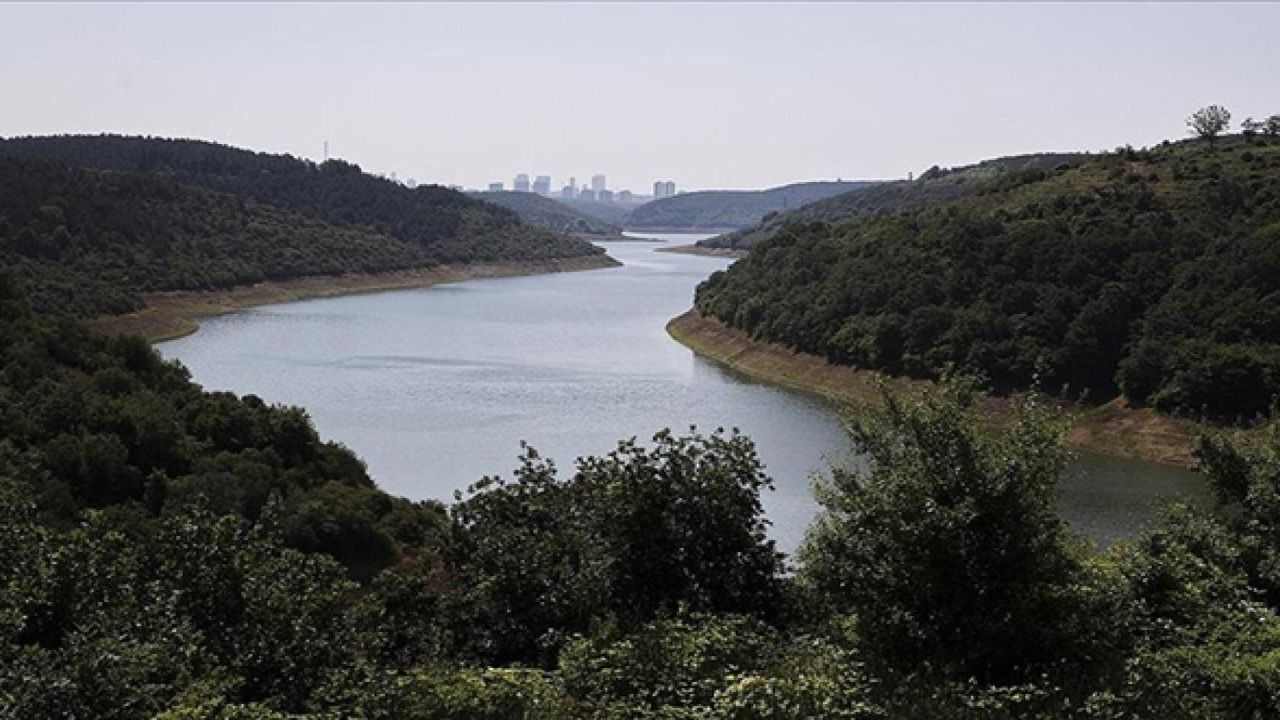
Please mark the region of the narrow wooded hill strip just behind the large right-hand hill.
[[998, 173], [1039, 168], [1052, 170], [1060, 165], [1083, 161], [1087, 155], [1041, 152], [984, 160], [975, 165], [942, 169], [929, 168], [914, 181], [868, 184], [849, 192], [815, 200], [795, 210], [778, 213], [751, 227], [700, 241], [704, 247], [750, 250], [785, 225], [794, 223], [833, 223], [859, 215], [893, 213], [928, 202], [952, 200], [977, 188], [982, 179]]

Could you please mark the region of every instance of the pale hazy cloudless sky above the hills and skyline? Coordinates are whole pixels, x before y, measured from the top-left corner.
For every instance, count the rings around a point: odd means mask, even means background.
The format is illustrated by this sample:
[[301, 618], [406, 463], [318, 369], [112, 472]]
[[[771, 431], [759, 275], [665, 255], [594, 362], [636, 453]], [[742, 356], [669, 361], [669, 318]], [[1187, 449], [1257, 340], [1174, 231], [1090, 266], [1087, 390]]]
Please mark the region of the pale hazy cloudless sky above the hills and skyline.
[[648, 192], [886, 178], [1280, 113], [1280, 5], [0, 5], [0, 136]]

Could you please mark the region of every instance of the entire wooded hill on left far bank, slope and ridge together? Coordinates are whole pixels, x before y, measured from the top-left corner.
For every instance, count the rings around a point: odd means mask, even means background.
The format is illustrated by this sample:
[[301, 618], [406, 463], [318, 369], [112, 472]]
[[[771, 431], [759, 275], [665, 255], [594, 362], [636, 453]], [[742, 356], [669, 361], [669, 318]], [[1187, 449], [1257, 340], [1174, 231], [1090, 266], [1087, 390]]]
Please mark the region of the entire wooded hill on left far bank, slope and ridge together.
[[145, 137], [0, 140], [0, 256], [41, 307], [120, 313], [147, 291], [599, 252], [340, 160]]

